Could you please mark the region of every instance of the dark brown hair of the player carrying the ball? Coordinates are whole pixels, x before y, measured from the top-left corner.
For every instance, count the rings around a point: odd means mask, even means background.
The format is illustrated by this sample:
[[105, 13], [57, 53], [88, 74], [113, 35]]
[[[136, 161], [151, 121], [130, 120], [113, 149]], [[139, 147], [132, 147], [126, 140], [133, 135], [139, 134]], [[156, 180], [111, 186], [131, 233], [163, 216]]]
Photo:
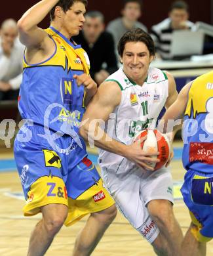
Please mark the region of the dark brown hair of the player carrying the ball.
[[155, 45], [151, 36], [141, 28], [135, 28], [123, 34], [123, 37], [119, 40], [117, 45], [117, 51], [122, 57], [125, 50], [125, 45], [128, 42], [142, 42], [146, 45], [149, 50], [150, 56], [155, 58]]

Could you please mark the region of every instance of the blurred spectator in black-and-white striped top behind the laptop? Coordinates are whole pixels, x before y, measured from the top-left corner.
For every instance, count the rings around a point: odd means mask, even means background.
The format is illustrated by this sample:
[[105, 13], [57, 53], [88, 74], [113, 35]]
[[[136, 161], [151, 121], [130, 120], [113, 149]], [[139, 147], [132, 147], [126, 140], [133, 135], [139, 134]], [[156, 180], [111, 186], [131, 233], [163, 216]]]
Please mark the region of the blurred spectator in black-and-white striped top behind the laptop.
[[189, 18], [189, 9], [184, 1], [175, 1], [170, 7], [168, 18], [157, 25], [151, 27], [151, 37], [155, 42], [157, 57], [163, 60], [172, 58], [170, 47], [172, 41], [172, 32], [174, 30], [191, 30], [193, 22]]

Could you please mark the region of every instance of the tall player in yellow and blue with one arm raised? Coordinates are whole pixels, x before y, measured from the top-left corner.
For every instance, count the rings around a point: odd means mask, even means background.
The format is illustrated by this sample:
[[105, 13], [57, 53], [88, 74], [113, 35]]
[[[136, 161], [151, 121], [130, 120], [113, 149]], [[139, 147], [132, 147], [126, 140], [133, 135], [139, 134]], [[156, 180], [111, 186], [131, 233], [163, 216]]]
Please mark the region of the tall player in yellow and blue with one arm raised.
[[[87, 53], [71, 40], [83, 27], [86, 5], [87, 0], [43, 0], [18, 21], [26, 45], [18, 108], [26, 122], [14, 156], [27, 201], [24, 215], [43, 216], [28, 255], [44, 255], [62, 224], [91, 213], [74, 249], [74, 255], [90, 255], [116, 215], [78, 135], [85, 106], [97, 90]], [[42, 30], [37, 24], [48, 12], [50, 28]]]

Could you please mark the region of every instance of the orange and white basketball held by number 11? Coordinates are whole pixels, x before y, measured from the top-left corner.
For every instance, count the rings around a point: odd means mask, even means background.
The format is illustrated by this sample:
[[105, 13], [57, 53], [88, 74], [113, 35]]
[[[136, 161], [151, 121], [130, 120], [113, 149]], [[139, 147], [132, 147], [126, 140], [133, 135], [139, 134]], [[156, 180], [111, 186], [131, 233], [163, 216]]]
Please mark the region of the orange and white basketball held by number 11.
[[[159, 155], [157, 158], [160, 160], [159, 163], [147, 163], [149, 166], [153, 167], [156, 171], [161, 167], [165, 166], [168, 158], [170, 157], [170, 142], [168, 138], [163, 133], [157, 131], [157, 129], [151, 130], [146, 129], [137, 133], [134, 137], [134, 142], [140, 140], [142, 137], [146, 136], [147, 139], [141, 142], [141, 148], [145, 152], [155, 152], [158, 151]], [[151, 156], [151, 158], [155, 158], [156, 156]]]

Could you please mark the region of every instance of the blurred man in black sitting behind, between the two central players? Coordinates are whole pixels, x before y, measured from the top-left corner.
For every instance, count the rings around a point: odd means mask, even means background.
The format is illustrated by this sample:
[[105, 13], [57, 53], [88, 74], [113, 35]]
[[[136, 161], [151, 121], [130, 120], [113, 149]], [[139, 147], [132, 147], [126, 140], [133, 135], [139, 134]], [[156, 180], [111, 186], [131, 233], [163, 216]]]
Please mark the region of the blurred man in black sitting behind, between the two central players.
[[117, 70], [113, 37], [104, 31], [104, 15], [101, 12], [87, 12], [83, 32], [73, 40], [87, 52], [90, 75], [98, 85]]

